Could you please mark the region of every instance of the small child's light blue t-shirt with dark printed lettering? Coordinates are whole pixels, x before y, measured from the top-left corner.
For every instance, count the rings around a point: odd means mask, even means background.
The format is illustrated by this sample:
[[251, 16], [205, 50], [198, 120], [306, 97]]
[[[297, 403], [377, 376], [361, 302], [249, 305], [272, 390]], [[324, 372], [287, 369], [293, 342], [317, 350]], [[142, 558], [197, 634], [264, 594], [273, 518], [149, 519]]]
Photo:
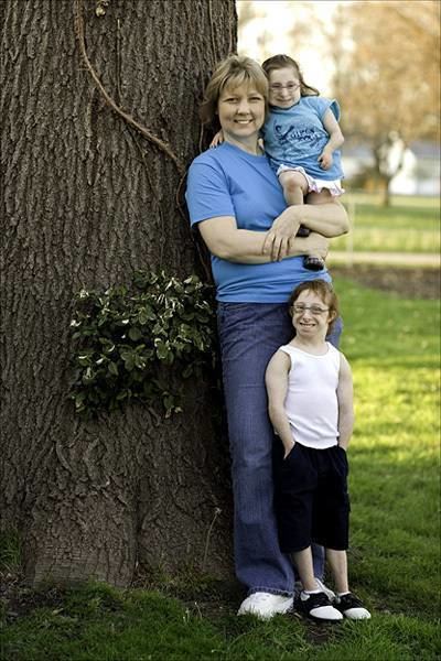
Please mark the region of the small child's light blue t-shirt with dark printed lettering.
[[271, 106], [261, 134], [271, 167], [277, 172], [280, 165], [301, 166], [314, 178], [341, 180], [343, 171], [341, 153], [333, 152], [333, 164], [329, 170], [320, 167], [318, 158], [330, 136], [323, 126], [323, 117], [331, 109], [340, 119], [340, 107], [335, 99], [323, 97], [300, 97], [291, 108]]

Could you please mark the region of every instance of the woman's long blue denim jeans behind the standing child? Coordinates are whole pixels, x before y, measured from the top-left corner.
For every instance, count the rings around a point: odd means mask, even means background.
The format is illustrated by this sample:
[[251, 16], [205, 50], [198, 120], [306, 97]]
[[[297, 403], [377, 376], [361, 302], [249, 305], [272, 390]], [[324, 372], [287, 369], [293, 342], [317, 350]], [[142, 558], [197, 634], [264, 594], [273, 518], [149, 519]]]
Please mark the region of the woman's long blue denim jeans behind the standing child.
[[[292, 594], [294, 573], [279, 548], [273, 510], [272, 446], [265, 371], [293, 336], [284, 303], [219, 303], [223, 380], [232, 454], [237, 578], [249, 594]], [[337, 346], [342, 322], [327, 339]], [[277, 440], [277, 443], [280, 441]], [[313, 548], [314, 573], [323, 576], [324, 553]]]

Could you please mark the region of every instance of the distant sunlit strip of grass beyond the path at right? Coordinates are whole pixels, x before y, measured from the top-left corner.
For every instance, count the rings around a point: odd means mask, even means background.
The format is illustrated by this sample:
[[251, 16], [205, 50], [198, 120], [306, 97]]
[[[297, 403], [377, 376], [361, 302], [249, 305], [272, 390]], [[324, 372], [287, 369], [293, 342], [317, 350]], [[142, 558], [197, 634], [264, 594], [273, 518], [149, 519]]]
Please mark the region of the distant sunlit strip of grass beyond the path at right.
[[[356, 252], [439, 252], [440, 205], [434, 197], [392, 196], [381, 207], [378, 196], [348, 193], [342, 197], [351, 219], [351, 236], [333, 239], [333, 250]], [[351, 243], [352, 242], [352, 243]]]

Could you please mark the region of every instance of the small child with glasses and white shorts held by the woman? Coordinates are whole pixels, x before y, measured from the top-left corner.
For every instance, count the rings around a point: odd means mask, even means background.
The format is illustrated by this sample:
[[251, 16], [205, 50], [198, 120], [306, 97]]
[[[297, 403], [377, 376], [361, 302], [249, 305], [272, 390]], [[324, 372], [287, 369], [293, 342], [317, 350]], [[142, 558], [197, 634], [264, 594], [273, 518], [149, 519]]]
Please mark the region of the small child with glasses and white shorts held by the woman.
[[[320, 97], [306, 85], [298, 63], [275, 55], [261, 65], [269, 84], [269, 115], [261, 129], [265, 151], [283, 188], [289, 205], [323, 204], [344, 193], [338, 148], [344, 142], [338, 126], [340, 106]], [[216, 133], [211, 147], [223, 141]], [[301, 226], [298, 236], [310, 230]], [[305, 269], [320, 271], [323, 260], [314, 254], [303, 260]]]

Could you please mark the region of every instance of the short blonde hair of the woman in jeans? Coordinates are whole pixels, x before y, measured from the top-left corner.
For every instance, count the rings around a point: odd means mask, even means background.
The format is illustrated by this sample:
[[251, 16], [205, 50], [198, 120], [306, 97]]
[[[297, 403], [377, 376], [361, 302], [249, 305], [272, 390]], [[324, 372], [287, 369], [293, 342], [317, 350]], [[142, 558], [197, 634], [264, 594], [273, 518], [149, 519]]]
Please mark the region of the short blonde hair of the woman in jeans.
[[205, 88], [204, 98], [200, 108], [201, 121], [211, 123], [217, 113], [219, 96], [226, 87], [233, 89], [240, 85], [252, 85], [262, 95], [268, 109], [268, 79], [260, 64], [251, 57], [229, 55], [220, 62]]

